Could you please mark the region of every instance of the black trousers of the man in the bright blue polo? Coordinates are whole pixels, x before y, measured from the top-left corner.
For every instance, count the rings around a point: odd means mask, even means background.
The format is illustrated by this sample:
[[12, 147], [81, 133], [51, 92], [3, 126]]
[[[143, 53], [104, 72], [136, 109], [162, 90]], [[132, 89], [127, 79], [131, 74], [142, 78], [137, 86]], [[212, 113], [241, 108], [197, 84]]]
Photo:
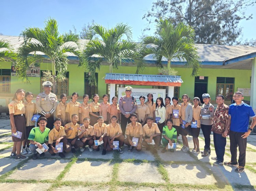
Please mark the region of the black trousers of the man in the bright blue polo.
[[247, 138], [242, 138], [241, 136], [244, 133], [230, 131], [229, 139], [230, 139], [230, 153], [231, 153], [231, 162], [237, 162], [237, 146], [239, 149], [239, 158], [238, 165], [241, 167], [245, 166], [245, 154], [246, 154], [246, 145]]

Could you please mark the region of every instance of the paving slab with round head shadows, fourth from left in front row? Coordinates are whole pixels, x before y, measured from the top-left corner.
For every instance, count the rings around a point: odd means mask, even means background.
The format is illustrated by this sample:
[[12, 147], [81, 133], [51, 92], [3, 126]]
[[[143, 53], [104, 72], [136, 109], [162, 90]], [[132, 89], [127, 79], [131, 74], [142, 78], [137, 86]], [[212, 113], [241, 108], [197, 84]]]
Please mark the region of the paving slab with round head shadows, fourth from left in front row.
[[[211, 185], [217, 183], [216, 179], [212, 175], [212, 172], [205, 170], [199, 164], [170, 164], [165, 165], [172, 184], [205, 184]], [[179, 174], [179, 178], [173, 175]], [[188, 178], [189, 177], [189, 178]]]

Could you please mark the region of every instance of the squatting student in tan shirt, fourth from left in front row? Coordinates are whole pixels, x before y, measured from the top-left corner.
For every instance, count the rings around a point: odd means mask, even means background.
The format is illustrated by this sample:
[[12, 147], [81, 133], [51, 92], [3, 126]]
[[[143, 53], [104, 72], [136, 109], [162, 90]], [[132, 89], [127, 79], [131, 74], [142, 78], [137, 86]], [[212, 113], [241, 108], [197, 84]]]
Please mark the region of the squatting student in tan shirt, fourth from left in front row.
[[94, 129], [93, 126], [89, 125], [90, 124], [90, 119], [89, 118], [84, 118], [84, 124], [80, 126], [80, 129], [78, 130], [78, 138], [80, 141], [83, 142], [84, 146], [80, 149], [81, 152], [84, 152], [85, 146], [89, 145], [89, 151], [93, 151], [93, 133]]

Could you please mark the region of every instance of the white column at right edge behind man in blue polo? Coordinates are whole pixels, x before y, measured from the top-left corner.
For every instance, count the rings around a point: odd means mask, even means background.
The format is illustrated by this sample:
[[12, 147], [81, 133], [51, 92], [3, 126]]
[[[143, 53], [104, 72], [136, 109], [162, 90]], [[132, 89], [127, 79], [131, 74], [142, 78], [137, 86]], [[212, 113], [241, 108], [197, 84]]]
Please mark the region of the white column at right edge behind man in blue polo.
[[253, 107], [254, 112], [256, 111], [256, 57], [252, 62], [252, 79], [251, 79], [251, 100], [250, 105]]

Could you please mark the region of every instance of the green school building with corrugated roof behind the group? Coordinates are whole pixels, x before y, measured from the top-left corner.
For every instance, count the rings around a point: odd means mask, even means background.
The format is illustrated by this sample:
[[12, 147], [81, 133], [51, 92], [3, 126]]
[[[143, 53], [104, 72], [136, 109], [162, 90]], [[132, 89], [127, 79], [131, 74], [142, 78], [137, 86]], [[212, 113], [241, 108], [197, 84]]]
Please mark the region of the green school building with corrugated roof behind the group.
[[[17, 36], [3, 36], [0, 39], [10, 41], [17, 50], [21, 41]], [[86, 40], [81, 40], [86, 43]], [[225, 103], [230, 104], [232, 94], [238, 90], [243, 91], [244, 100], [251, 103], [256, 109], [256, 47], [250, 46], [220, 46], [220, 45], [196, 45], [201, 58], [202, 69], [199, 76], [191, 76], [191, 69], [184, 68], [184, 62], [172, 60], [171, 67], [175, 68], [181, 76], [183, 83], [180, 87], [174, 87], [174, 95], [181, 98], [183, 94], [188, 94], [190, 99], [202, 97], [202, 93], [209, 93], [212, 103], [215, 103], [215, 96], [223, 94]], [[83, 94], [91, 96], [98, 93], [110, 94], [110, 84], [106, 84], [104, 77], [109, 73], [109, 66], [105, 63], [101, 65], [99, 71], [95, 73], [97, 86], [89, 86], [88, 73], [85, 69], [78, 68], [78, 58], [69, 55], [69, 65], [66, 73], [67, 80], [57, 84], [57, 97], [61, 93], [66, 93], [69, 97], [73, 92], [79, 93], [79, 101], [82, 101]], [[159, 72], [155, 66], [153, 55], [144, 58], [146, 68], [141, 74], [157, 75]], [[163, 65], [167, 66], [167, 59], [162, 59]], [[31, 74], [31, 70], [32, 74]], [[18, 88], [31, 91], [34, 98], [42, 91], [42, 71], [51, 70], [51, 63], [40, 62], [35, 67], [28, 70], [30, 84], [22, 83], [12, 70], [11, 62], [0, 62], [0, 105], [7, 106]], [[34, 73], [36, 72], [36, 73]], [[113, 73], [135, 74], [136, 66], [133, 64], [123, 64]], [[125, 87], [130, 84], [116, 84], [115, 94], [118, 94], [118, 87]], [[136, 86], [139, 88], [166, 88], [165, 86]]]

